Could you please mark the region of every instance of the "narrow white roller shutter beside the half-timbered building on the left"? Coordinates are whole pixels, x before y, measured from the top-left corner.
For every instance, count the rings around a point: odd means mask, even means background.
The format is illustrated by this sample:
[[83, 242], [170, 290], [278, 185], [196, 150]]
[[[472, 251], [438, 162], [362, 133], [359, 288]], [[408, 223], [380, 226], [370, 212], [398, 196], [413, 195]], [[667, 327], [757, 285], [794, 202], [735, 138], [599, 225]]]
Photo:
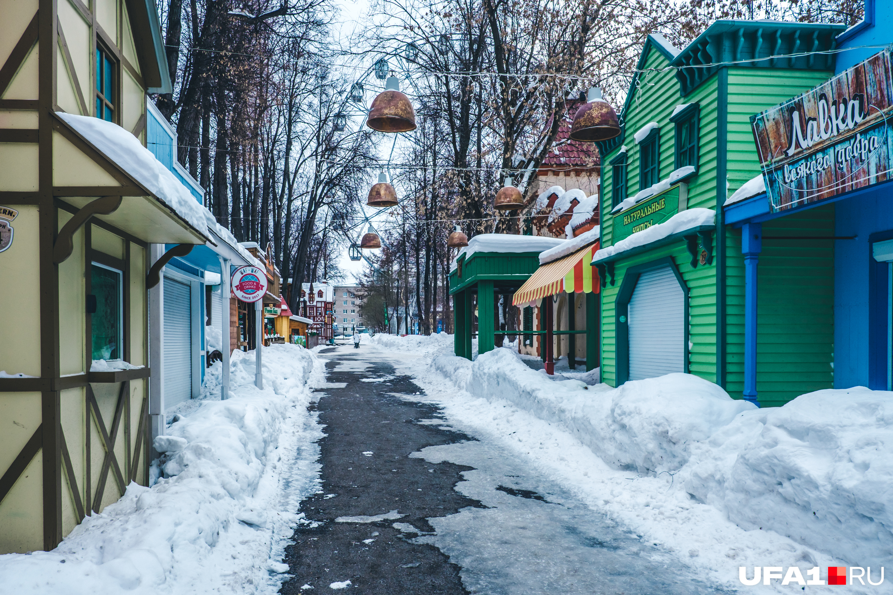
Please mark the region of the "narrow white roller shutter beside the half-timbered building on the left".
[[164, 277], [164, 407], [192, 397], [190, 287]]

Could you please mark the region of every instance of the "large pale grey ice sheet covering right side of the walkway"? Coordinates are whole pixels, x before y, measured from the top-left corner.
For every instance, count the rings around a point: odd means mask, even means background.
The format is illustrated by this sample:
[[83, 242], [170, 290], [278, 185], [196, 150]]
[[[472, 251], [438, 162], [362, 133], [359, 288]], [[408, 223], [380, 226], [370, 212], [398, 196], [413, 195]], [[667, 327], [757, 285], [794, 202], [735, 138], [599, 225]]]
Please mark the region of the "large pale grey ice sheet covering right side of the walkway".
[[482, 507], [429, 518], [435, 533], [413, 538], [438, 547], [461, 566], [463, 584], [472, 593], [724, 592], [700, 581], [670, 552], [640, 541], [560, 485], [531, 473], [495, 444], [457, 442], [410, 457], [474, 467], [463, 472], [465, 481], [455, 490]]

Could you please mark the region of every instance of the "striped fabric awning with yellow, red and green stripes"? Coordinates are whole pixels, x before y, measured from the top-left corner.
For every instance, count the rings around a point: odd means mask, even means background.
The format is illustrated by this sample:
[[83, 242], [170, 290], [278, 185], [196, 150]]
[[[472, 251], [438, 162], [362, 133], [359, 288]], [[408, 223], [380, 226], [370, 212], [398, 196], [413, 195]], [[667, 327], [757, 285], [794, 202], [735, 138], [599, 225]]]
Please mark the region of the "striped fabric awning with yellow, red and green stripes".
[[590, 265], [598, 242], [580, 248], [558, 260], [539, 265], [539, 269], [514, 293], [512, 303], [521, 306], [555, 293], [598, 293], [598, 271]]

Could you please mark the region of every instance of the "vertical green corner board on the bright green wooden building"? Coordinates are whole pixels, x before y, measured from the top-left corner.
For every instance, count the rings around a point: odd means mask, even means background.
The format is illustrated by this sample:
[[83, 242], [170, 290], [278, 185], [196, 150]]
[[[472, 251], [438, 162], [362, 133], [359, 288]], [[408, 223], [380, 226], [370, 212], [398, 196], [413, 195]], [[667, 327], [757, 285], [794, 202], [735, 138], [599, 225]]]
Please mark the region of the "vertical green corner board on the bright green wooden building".
[[717, 73], [716, 102], [716, 384], [726, 386], [726, 261], [722, 205], [728, 197], [729, 69]]

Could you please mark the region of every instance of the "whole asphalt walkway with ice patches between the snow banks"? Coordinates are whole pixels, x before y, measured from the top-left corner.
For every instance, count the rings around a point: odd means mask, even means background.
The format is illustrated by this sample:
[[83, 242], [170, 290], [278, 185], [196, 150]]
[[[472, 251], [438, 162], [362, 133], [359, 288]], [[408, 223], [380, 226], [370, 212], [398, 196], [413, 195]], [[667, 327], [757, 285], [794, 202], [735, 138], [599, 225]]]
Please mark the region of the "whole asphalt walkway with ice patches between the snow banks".
[[729, 592], [500, 441], [455, 426], [406, 374], [417, 354], [320, 356], [324, 487], [301, 508], [318, 525], [297, 528], [282, 593], [348, 581], [382, 595]]

